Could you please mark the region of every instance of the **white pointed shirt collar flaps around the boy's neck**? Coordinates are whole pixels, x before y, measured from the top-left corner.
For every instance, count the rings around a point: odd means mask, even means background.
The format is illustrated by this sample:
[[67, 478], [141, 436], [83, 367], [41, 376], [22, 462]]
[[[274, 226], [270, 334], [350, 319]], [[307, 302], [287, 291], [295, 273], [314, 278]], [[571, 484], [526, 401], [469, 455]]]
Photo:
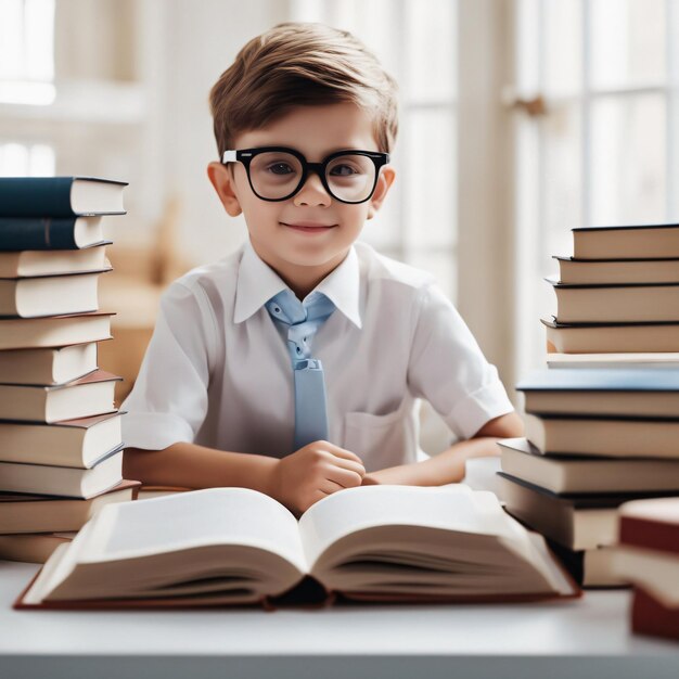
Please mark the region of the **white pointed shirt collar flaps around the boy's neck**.
[[[262, 261], [249, 240], [243, 247], [235, 289], [233, 322], [242, 323], [256, 313], [271, 297], [287, 287], [283, 280]], [[344, 261], [313, 290], [323, 293], [357, 328], [360, 316], [360, 268], [354, 247]]]

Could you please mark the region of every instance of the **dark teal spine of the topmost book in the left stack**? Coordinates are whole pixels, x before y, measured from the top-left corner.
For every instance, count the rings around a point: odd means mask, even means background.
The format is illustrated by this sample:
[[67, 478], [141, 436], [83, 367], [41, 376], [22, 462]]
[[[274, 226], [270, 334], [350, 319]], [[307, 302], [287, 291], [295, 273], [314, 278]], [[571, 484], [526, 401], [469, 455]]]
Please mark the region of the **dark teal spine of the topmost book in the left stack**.
[[0, 179], [0, 216], [73, 217], [72, 177], [8, 177]]

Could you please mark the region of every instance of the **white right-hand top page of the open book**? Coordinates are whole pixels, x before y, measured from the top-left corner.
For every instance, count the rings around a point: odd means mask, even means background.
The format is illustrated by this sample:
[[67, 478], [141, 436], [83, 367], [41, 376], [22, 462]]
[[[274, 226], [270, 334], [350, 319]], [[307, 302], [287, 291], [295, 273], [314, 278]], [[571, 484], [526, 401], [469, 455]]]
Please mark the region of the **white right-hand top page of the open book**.
[[374, 526], [427, 526], [462, 533], [507, 535], [497, 497], [463, 484], [441, 487], [359, 486], [334, 492], [309, 508], [299, 534], [309, 566], [333, 542]]

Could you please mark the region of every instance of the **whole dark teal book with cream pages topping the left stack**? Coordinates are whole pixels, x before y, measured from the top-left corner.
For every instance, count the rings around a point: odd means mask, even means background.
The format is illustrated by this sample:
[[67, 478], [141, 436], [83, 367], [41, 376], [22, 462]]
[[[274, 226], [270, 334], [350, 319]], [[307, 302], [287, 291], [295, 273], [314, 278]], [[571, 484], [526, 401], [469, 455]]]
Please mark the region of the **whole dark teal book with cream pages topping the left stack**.
[[0, 216], [125, 215], [127, 185], [98, 177], [2, 177]]

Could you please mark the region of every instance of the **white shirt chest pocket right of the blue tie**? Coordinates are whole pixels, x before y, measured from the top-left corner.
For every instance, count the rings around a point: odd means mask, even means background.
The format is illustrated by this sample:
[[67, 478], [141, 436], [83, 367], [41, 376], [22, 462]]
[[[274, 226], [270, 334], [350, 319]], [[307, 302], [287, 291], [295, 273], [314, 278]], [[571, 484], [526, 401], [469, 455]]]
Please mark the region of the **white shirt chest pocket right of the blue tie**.
[[417, 459], [417, 433], [410, 399], [384, 415], [347, 412], [344, 417], [344, 448], [355, 452], [367, 472], [407, 464]]

